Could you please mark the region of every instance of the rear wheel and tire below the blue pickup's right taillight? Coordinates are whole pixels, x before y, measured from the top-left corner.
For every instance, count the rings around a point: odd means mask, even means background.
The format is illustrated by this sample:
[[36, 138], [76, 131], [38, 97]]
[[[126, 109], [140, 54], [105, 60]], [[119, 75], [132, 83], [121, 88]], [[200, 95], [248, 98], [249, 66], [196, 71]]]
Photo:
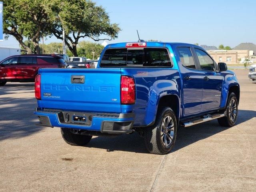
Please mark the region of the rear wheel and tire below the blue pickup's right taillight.
[[[167, 126], [165, 126], [167, 122], [166, 118], [168, 116], [171, 118], [171, 120]], [[163, 123], [164, 125], [162, 125]], [[170, 128], [167, 129], [168, 127]], [[170, 133], [168, 130], [171, 130]], [[170, 107], [160, 109], [156, 115], [155, 124], [144, 129], [144, 141], [148, 152], [161, 155], [169, 153], [174, 146], [176, 134], [177, 121], [173, 110]], [[172, 139], [170, 140], [171, 135]]]

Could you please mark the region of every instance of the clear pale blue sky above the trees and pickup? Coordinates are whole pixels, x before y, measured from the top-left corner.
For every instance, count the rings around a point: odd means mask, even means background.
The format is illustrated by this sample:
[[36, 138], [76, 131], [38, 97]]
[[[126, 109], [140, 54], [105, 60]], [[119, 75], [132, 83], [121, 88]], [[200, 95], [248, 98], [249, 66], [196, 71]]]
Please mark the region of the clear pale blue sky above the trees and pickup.
[[[256, 44], [255, 0], [94, 0], [122, 31], [109, 43], [143, 40], [235, 47]], [[80, 40], [89, 40], [88, 38]], [[47, 38], [45, 43], [61, 42]], [[100, 42], [101, 43], [101, 42]], [[19, 47], [14, 38], [0, 47]]]

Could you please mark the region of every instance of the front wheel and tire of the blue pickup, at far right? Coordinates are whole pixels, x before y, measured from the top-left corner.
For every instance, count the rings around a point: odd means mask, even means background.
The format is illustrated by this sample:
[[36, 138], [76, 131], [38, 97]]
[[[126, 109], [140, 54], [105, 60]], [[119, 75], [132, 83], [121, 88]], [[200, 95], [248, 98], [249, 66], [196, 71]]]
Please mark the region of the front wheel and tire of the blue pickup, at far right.
[[236, 124], [236, 119], [238, 115], [238, 101], [236, 94], [233, 92], [228, 96], [228, 101], [226, 104], [226, 110], [224, 112], [225, 117], [218, 118], [218, 122], [221, 126], [232, 127]]

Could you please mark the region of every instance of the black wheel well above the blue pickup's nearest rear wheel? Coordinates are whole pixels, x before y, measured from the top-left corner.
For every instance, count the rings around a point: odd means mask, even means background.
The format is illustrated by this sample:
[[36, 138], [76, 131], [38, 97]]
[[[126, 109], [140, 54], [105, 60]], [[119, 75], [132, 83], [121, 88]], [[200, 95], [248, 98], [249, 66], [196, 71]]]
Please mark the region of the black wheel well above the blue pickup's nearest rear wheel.
[[180, 102], [176, 95], [162, 96], [158, 102], [158, 109], [163, 106], [168, 106], [168, 107], [172, 108], [177, 119], [179, 118]]

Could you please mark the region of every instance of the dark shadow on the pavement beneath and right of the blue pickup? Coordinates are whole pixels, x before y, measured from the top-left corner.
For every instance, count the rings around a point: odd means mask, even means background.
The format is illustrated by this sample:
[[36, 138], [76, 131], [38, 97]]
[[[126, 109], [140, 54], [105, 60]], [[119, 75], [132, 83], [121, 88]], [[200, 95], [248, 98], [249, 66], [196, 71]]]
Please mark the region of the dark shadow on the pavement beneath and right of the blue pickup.
[[[246, 122], [256, 117], [256, 111], [239, 110], [236, 125]], [[179, 128], [176, 143], [172, 152], [184, 148], [194, 142], [208, 138], [214, 134], [229, 129], [230, 127], [222, 127], [217, 120], [205, 122], [189, 128]], [[93, 138], [86, 147], [102, 148], [108, 152], [113, 151], [128, 151], [137, 153], [148, 153], [144, 146], [144, 139], [138, 134], [120, 135], [114, 138], [96, 137]]]

